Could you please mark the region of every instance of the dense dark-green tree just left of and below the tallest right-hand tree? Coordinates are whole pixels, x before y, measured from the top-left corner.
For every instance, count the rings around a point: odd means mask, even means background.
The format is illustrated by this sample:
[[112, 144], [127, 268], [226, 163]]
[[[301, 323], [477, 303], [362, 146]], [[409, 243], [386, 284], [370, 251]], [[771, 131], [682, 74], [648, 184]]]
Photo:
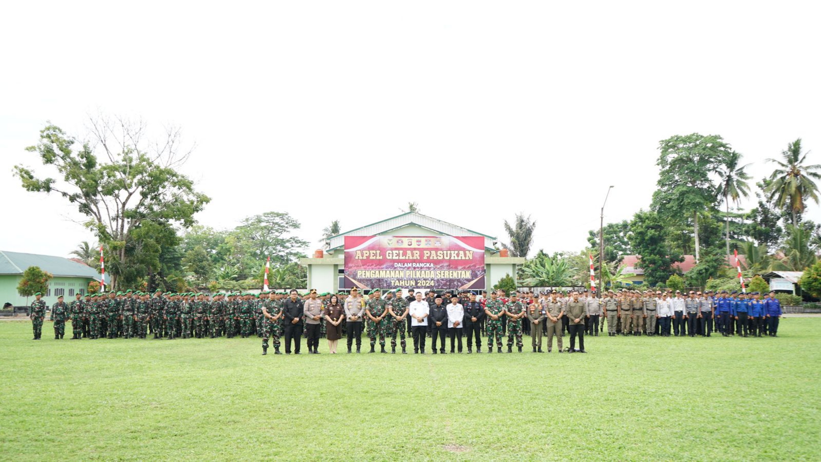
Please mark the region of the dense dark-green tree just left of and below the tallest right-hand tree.
[[640, 211], [630, 222], [631, 245], [639, 255], [639, 267], [644, 268], [644, 282], [655, 286], [667, 281], [674, 272], [673, 263], [681, 262], [681, 254], [674, 253], [667, 245], [667, 223], [658, 213]]

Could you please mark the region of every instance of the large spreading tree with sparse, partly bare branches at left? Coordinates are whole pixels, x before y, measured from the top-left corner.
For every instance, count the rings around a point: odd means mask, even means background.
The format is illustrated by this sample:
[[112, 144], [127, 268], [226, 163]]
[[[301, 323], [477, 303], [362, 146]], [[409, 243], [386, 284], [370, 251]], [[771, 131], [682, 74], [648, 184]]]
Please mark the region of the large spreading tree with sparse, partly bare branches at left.
[[158, 140], [149, 140], [147, 133], [142, 121], [97, 117], [89, 120], [92, 141], [80, 143], [48, 125], [26, 151], [37, 154], [50, 172], [40, 176], [15, 167], [25, 190], [60, 194], [88, 218], [85, 226], [107, 248], [112, 288], [120, 276], [117, 268], [126, 268], [126, 240], [135, 227], [143, 222], [191, 226], [210, 200], [179, 172], [190, 154], [181, 149], [181, 131], [171, 127]]

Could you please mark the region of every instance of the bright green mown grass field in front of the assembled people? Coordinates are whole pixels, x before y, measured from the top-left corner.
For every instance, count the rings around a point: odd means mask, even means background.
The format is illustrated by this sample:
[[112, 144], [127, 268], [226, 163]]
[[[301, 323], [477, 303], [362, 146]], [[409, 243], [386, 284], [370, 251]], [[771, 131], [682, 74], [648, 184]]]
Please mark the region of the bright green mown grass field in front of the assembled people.
[[588, 355], [328, 355], [323, 339], [261, 356], [257, 338], [50, 329], [0, 322], [0, 459], [821, 459], [821, 318], [778, 338], [599, 336]]

